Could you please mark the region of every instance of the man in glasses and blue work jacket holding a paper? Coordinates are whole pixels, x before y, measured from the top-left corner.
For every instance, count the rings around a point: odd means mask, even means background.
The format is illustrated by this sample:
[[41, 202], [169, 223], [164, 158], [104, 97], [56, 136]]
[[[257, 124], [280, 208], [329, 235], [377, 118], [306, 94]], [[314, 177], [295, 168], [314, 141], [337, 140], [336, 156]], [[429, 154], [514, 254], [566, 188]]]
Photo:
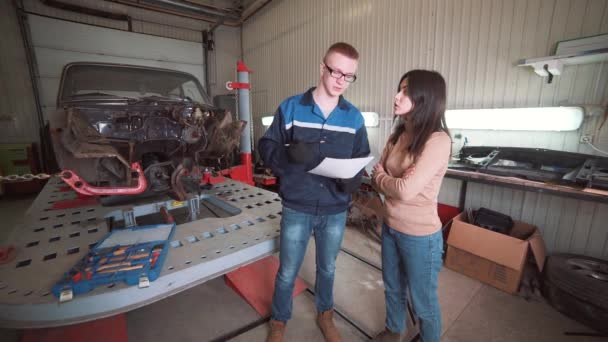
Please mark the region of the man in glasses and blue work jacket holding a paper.
[[351, 179], [333, 179], [307, 171], [326, 157], [369, 155], [363, 116], [342, 97], [357, 78], [358, 59], [359, 53], [351, 45], [332, 45], [321, 62], [317, 87], [283, 101], [260, 139], [260, 155], [279, 177], [283, 200], [280, 267], [268, 341], [283, 339], [291, 318], [295, 278], [312, 233], [317, 254], [317, 324], [327, 341], [340, 341], [333, 323], [335, 263], [351, 193], [359, 187], [361, 173]]

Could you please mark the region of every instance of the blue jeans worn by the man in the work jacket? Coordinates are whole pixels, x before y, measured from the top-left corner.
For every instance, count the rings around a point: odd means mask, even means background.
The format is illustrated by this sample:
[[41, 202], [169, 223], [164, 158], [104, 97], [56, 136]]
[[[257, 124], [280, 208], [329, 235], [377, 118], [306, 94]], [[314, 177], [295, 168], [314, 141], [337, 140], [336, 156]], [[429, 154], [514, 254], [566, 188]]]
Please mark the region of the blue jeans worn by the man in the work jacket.
[[346, 211], [334, 215], [311, 215], [283, 207], [280, 266], [272, 296], [272, 319], [286, 322], [291, 318], [293, 287], [313, 232], [317, 254], [315, 304], [318, 312], [333, 308], [336, 257], [340, 252], [345, 224]]

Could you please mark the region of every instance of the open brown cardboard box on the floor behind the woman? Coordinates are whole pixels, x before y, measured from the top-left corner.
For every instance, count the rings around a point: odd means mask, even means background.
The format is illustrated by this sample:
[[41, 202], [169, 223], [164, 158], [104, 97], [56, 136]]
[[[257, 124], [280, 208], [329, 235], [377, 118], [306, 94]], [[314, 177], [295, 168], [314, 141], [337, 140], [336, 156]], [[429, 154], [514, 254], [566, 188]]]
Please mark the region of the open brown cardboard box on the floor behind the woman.
[[510, 235], [466, 222], [466, 213], [454, 218], [448, 237], [446, 267], [508, 293], [516, 293], [528, 252], [539, 271], [545, 264], [545, 242], [535, 226], [514, 221]]

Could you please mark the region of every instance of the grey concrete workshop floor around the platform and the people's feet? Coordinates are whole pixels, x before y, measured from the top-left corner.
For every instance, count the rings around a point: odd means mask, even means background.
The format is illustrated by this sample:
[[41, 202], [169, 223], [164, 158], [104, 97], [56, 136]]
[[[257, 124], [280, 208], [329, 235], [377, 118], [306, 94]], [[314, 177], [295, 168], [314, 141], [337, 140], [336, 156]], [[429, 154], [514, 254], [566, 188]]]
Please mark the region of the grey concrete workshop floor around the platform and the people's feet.
[[[23, 216], [31, 199], [0, 200], [0, 244]], [[355, 229], [348, 229], [343, 247], [380, 265], [380, 247]], [[314, 243], [300, 272], [314, 284]], [[336, 316], [344, 341], [365, 341], [384, 327], [384, 294], [378, 269], [341, 253], [334, 285]], [[442, 341], [606, 341], [569, 337], [564, 332], [589, 332], [541, 299], [526, 301], [444, 268], [439, 277], [443, 318]], [[127, 314], [130, 341], [221, 340], [243, 327], [231, 341], [264, 341], [268, 328], [255, 310], [217, 278]], [[350, 321], [350, 322], [349, 322]], [[19, 332], [0, 329], [0, 341], [18, 341]], [[286, 341], [323, 341], [315, 324], [314, 297], [304, 292], [294, 300]]]

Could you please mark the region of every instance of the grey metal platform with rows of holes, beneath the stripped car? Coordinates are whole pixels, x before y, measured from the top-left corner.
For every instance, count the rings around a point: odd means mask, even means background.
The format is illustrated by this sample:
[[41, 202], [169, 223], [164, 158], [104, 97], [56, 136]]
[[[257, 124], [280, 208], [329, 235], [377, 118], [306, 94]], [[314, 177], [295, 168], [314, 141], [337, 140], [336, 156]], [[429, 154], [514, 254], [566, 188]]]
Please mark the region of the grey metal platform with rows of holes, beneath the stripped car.
[[[18, 255], [13, 262], [0, 265], [2, 327], [61, 326], [126, 312], [218, 277], [278, 248], [278, 195], [227, 179], [198, 196], [199, 217], [203, 218], [181, 224], [178, 220], [164, 269], [150, 287], [110, 284], [59, 303], [51, 287], [107, 234], [109, 221], [129, 225], [131, 219], [138, 220], [161, 206], [170, 210], [187, 207], [187, 203], [162, 198], [137, 205], [52, 209], [55, 202], [76, 198], [76, 193], [64, 188], [61, 180], [51, 179], [8, 241], [18, 248]], [[204, 217], [205, 211], [214, 217]]]

